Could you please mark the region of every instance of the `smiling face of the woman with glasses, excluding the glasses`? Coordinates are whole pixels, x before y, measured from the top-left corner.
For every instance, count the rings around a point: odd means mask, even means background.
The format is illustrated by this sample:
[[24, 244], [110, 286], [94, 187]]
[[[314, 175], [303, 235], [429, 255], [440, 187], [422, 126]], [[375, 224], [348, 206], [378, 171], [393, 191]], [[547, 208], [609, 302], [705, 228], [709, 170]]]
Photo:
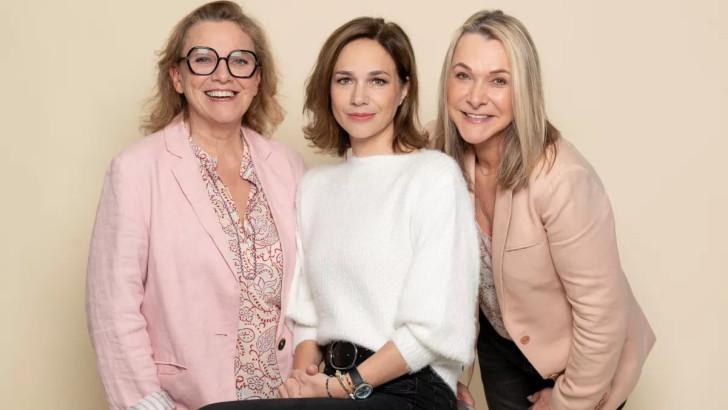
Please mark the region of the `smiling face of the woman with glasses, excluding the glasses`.
[[[250, 36], [230, 21], [195, 23], [185, 36], [184, 55], [193, 47], [212, 48], [221, 57], [233, 50], [255, 51]], [[175, 90], [187, 100], [190, 124], [197, 128], [238, 127], [260, 84], [259, 71], [251, 78], [235, 78], [225, 61], [212, 74], [201, 76], [193, 74], [182, 60], [169, 74]]]

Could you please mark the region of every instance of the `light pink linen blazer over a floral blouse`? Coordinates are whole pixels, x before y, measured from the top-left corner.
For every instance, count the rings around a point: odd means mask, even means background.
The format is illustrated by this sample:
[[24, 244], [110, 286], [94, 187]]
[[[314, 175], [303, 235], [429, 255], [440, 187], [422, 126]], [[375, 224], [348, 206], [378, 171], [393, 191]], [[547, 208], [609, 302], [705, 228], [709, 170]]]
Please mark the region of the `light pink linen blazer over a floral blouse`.
[[[301, 157], [243, 127], [283, 248], [281, 312], [295, 265]], [[89, 332], [113, 409], [164, 390], [177, 409], [236, 399], [240, 290], [181, 115], [115, 157], [91, 239]], [[292, 337], [274, 341], [285, 378]]]

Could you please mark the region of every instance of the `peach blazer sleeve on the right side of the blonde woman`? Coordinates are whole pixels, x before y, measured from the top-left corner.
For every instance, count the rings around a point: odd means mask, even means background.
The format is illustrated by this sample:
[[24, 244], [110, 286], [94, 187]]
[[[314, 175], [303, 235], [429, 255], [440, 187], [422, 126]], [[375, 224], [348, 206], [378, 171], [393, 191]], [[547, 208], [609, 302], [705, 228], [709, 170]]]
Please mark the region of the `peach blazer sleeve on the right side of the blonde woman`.
[[572, 306], [573, 342], [551, 408], [594, 409], [609, 394], [624, 345], [630, 290], [612, 209], [596, 173], [583, 164], [553, 172], [536, 204]]

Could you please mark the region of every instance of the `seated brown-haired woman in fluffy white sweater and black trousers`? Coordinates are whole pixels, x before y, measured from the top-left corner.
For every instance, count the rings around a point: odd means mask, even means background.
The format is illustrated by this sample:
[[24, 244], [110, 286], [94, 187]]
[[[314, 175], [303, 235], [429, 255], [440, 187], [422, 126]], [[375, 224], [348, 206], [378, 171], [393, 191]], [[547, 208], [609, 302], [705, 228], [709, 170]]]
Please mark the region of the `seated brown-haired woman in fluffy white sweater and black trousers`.
[[406, 34], [374, 18], [340, 27], [305, 109], [313, 145], [351, 154], [298, 193], [294, 370], [279, 389], [293, 400], [210, 408], [454, 409], [473, 360], [477, 232], [457, 164], [423, 149]]

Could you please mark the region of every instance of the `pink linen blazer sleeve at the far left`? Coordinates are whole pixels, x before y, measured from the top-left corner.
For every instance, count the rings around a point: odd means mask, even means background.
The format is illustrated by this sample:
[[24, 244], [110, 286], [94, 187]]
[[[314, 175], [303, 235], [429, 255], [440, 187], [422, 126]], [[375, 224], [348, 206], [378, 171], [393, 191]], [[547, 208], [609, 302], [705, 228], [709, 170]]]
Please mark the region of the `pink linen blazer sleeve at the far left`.
[[125, 409], [162, 390], [141, 313], [149, 234], [138, 192], [141, 180], [135, 172], [134, 161], [117, 157], [106, 173], [86, 281], [89, 333], [114, 409]]

